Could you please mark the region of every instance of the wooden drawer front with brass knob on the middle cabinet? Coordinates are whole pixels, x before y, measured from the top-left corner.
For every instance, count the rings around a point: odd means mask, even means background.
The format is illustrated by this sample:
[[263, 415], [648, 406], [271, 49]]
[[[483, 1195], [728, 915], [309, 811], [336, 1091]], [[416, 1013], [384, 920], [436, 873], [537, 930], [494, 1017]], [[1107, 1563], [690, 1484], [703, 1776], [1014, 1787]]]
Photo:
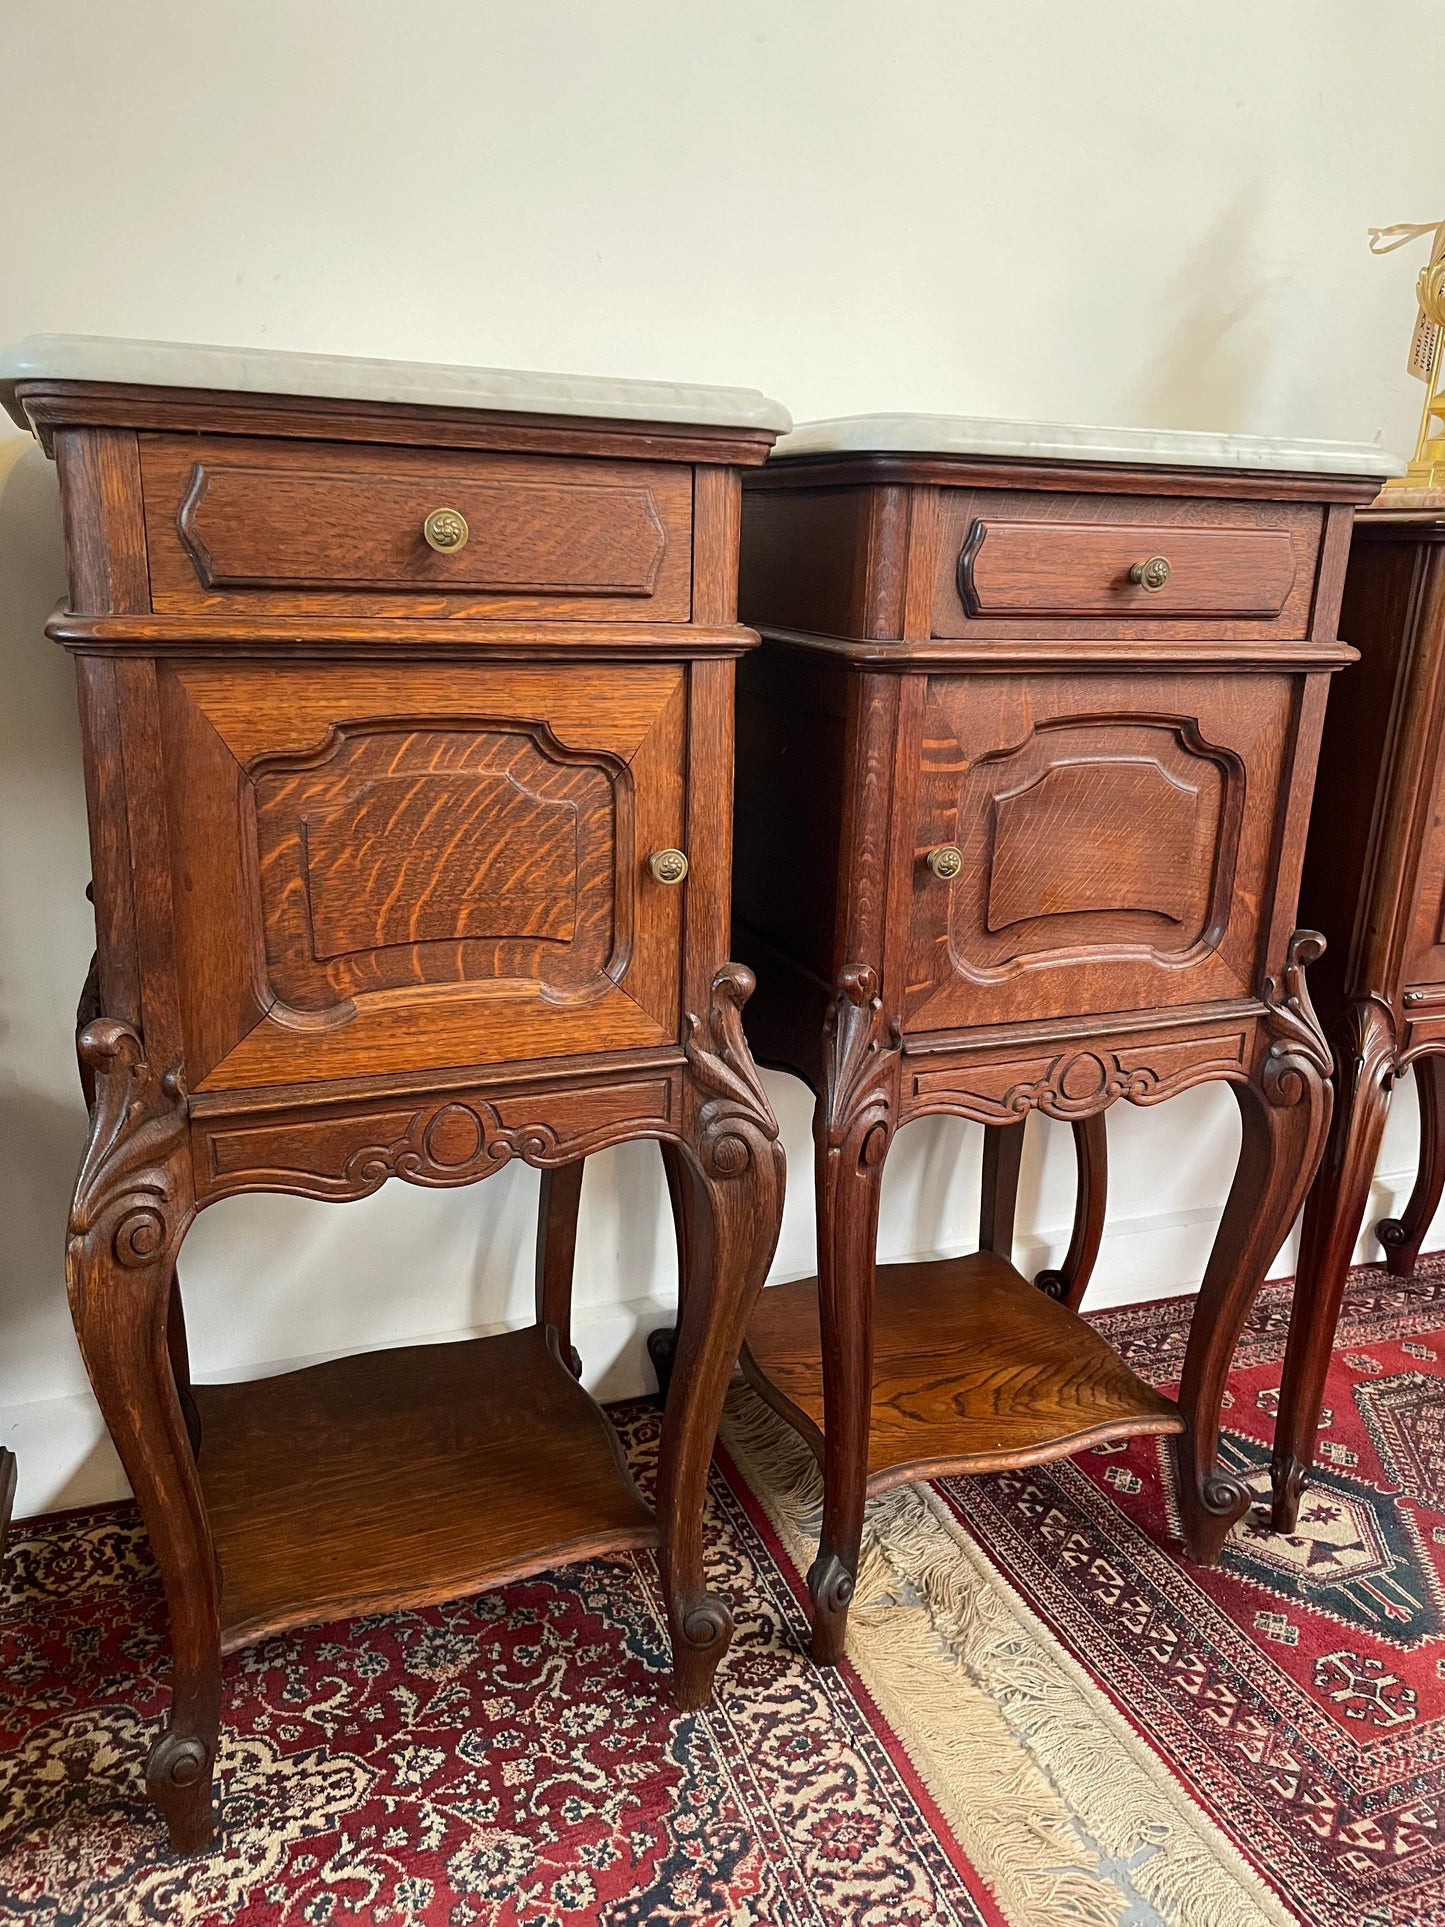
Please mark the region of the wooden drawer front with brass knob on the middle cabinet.
[[[1308, 632], [1320, 509], [950, 489], [936, 636]], [[1160, 588], [1144, 565], [1168, 565]], [[1131, 580], [1139, 570], [1144, 580]]]

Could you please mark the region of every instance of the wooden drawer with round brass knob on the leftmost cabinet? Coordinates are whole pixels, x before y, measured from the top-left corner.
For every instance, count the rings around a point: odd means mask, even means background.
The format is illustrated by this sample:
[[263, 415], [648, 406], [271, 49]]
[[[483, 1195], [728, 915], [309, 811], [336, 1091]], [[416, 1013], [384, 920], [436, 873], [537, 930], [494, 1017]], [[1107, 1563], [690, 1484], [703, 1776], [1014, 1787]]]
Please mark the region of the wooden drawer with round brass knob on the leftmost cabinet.
[[141, 472], [156, 611], [690, 615], [686, 464], [148, 437]]

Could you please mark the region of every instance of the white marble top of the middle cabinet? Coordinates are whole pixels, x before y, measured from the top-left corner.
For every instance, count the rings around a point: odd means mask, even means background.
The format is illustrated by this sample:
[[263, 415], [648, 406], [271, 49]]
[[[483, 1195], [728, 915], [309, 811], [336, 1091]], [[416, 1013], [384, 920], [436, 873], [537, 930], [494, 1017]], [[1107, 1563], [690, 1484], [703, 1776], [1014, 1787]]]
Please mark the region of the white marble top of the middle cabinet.
[[800, 422], [773, 449], [773, 459], [786, 455], [1000, 455], [1331, 476], [1405, 474], [1403, 461], [1370, 441], [1281, 441], [1193, 428], [1079, 428], [981, 414], [844, 414], [830, 422]]

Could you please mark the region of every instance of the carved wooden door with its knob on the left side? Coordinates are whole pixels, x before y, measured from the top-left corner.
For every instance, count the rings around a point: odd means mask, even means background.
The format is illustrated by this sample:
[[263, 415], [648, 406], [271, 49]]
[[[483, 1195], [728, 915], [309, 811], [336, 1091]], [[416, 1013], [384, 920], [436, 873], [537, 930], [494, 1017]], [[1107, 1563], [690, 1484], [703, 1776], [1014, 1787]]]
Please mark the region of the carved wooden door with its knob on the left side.
[[1250, 996], [1293, 725], [1283, 674], [931, 676], [906, 1027]]

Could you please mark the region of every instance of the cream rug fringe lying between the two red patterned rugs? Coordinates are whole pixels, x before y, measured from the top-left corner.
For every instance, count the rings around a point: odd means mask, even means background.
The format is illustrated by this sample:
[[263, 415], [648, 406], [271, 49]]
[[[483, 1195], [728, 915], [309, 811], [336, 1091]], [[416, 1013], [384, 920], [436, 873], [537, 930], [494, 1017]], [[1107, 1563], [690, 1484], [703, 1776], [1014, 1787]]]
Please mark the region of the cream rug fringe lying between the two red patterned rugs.
[[[805, 1569], [811, 1453], [751, 1393], [726, 1443]], [[1291, 1921], [931, 1488], [869, 1505], [848, 1651], [1012, 1927], [1117, 1927], [1131, 1900], [1102, 1860], [1171, 1927]]]

